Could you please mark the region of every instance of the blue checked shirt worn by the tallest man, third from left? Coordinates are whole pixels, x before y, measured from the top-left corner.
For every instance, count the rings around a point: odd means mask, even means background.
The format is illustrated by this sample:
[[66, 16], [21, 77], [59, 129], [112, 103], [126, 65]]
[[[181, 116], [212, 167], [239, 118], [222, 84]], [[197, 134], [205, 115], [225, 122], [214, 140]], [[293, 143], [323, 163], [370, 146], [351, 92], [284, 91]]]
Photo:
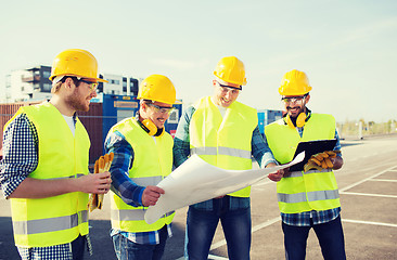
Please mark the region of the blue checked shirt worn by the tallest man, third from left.
[[[179, 123], [178, 129], [174, 139], [174, 165], [179, 167], [183, 161], [185, 161], [190, 156], [190, 134], [189, 126], [195, 108], [190, 106], [183, 113]], [[266, 140], [259, 132], [259, 128], [256, 127], [253, 131], [253, 138], [251, 140], [252, 155], [258, 161], [260, 167], [266, 167], [270, 162], [278, 164], [271, 153]], [[249, 197], [233, 197], [229, 196], [229, 209], [241, 209], [249, 207]], [[195, 204], [194, 208], [201, 210], [213, 210], [214, 204], [213, 199]]]

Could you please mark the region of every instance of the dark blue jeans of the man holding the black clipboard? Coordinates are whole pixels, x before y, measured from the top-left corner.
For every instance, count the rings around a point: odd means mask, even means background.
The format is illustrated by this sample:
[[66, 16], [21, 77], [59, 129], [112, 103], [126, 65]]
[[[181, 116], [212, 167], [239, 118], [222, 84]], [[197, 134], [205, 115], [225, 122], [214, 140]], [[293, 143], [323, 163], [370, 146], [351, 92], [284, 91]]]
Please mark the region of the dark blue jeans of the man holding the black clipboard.
[[316, 225], [311, 224], [310, 226], [294, 226], [282, 223], [282, 230], [284, 232], [285, 259], [305, 259], [306, 242], [311, 227], [316, 232], [322, 256], [325, 260], [346, 259], [341, 216], [330, 222]]

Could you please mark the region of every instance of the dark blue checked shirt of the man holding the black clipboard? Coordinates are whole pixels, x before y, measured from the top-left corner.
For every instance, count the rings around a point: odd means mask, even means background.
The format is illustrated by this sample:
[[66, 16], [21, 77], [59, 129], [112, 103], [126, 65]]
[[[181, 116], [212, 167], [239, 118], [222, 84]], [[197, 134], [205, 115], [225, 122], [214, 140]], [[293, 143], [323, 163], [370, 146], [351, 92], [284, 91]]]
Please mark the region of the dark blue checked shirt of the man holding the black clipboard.
[[[304, 127], [296, 129], [302, 138], [302, 135], [304, 134]], [[337, 134], [336, 130], [335, 130], [335, 139], [336, 144], [334, 151], [341, 151], [340, 135]], [[337, 156], [342, 156], [342, 154], [337, 154]], [[289, 225], [310, 226], [310, 219], [312, 221], [312, 224], [322, 224], [336, 219], [337, 216], [340, 216], [340, 213], [341, 213], [341, 207], [329, 210], [321, 210], [321, 211], [311, 210], [299, 213], [281, 212], [281, 220]]]

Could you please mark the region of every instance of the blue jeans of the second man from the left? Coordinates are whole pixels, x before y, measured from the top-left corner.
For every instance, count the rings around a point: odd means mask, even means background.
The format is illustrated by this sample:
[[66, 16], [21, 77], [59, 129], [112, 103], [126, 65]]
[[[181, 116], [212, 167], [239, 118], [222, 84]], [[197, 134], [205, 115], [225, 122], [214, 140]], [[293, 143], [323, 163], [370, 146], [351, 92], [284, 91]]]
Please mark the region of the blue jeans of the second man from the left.
[[167, 225], [159, 230], [159, 244], [141, 245], [129, 240], [121, 234], [112, 236], [114, 249], [119, 260], [159, 260], [168, 237]]

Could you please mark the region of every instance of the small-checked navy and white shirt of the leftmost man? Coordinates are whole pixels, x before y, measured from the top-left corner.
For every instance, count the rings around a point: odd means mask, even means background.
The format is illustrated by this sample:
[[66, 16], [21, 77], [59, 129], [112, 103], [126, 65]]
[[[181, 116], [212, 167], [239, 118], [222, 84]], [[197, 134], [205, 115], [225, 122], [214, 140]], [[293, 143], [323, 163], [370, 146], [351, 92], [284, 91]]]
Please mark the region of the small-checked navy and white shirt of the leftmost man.
[[[38, 141], [36, 127], [25, 114], [16, 116], [5, 129], [3, 159], [0, 162], [0, 184], [4, 198], [8, 198], [37, 168]], [[91, 252], [88, 235], [86, 238]], [[71, 243], [50, 247], [18, 247], [17, 249], [22, 259], [72, 259]]]

